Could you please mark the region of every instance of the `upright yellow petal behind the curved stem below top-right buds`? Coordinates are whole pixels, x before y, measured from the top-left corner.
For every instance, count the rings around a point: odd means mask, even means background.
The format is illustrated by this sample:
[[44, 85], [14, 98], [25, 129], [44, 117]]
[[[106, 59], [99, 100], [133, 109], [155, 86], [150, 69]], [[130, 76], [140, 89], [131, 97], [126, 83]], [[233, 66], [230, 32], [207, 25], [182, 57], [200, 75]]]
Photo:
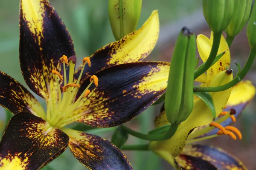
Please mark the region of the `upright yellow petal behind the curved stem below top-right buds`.
[[[203, 62], [206, 62], [209, 57], [209, 54], [212, 49], [212, 41], [213, 41], [212, 33], [211, 33], [210, 40], [202, 34], [197, 36], [196, 42], [198, 46], [198, 52]], [[220, 71], [226, 70], [230, 67], [230, 50], [227, 45], [226, 39], [224, 38], [223, 35], [221, 35], [221, 41], [220, 41], [217, 54], [220, 54], [224, 51], [226, 52], [221, 57], [221, 59], [219, 59], [214, 65], [212, 65], [211, 68], [207, 70], [207, 79], [218, 74]]]

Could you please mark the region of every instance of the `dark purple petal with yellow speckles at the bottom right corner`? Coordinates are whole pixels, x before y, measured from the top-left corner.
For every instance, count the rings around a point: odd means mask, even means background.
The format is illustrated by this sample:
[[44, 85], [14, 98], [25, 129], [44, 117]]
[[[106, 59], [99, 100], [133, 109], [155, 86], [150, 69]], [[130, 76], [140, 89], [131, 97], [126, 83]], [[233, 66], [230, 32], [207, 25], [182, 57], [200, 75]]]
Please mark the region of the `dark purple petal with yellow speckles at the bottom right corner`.
[[209, 145], [186, 145], [175, 158], [183, 170], [247, 170], [245, 165], [227, 151]]

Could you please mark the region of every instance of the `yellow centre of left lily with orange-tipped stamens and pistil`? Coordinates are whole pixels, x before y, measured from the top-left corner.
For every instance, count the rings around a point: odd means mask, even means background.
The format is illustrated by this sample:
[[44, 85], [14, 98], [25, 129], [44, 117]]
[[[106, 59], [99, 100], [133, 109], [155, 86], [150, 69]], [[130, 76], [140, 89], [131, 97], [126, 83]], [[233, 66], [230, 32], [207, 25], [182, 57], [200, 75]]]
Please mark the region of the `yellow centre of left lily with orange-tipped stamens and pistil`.
[[[55, 82], [58, 86], [58, 103], [49, 105], [47, 109], [47, 121], [53, 127], [64, 127], [68, 124], [68, 122], [75, 119], [76, 115], [73, 115], [72, 113], [81, 105], [85, 97], [90, 97], [90, 86], [94, 83], [97, 87], [99, 82], [98, 77], [95, 75], [90, 77], [90, 84], [87, 86], [87, 88], [84, 89], [79, 98], [75, 100], [77, 91], [80, 88], [79, 82], [81, 80], [84, 67], [86, 64], [88, 64], [89, 67], [91, 65], [90, 58], [84, 57], [81, 73], [76, 82], [73, 82], [76, 57], [71, 56], [69, 59], [67, 59], [67, 56], [63, 55], [61, 57], [61, 62], [63, 63], [64, 67], [64, 78], [58, 71], [52, 70], [52, 74], [55, 75]], [[66, 75], [66, 65], [70, 67], [68, 82]], [[59, 80], [64, 81], [64, 86], [62, 87], [63, 94], [61, 94], [61, 86], [59, 84]]]

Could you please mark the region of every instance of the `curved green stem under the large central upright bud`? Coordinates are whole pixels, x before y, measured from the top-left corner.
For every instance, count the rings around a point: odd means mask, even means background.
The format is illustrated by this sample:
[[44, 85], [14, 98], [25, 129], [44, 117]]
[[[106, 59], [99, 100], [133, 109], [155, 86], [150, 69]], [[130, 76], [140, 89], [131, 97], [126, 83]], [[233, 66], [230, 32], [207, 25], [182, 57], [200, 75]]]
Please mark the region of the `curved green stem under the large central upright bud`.
[[178, 126], [179, 126], [178, 124], [172, 124], [169, 128], [169, 131], [165, 134], [144, 134], [144, 133], [136, 132], [124, 125], [121, 125], [122, 129], [125, 130], [127, 133], [131, 134], [132, 136], [135, 136], [140, 139], [149, 140], [149, 141], [163, 141], [163, 140], [170, 139], [175, 134]]

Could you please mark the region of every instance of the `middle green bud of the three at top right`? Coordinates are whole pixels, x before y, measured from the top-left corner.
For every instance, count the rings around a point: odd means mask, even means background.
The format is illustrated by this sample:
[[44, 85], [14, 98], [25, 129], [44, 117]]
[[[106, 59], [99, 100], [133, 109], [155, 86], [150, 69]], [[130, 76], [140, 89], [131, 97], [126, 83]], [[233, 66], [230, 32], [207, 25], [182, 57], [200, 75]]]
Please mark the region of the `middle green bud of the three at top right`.
[[233, 17], [225, 29], [230, 37], [235, 37], [244, 28], [250, 16], [252, 0], [236, 0]]

